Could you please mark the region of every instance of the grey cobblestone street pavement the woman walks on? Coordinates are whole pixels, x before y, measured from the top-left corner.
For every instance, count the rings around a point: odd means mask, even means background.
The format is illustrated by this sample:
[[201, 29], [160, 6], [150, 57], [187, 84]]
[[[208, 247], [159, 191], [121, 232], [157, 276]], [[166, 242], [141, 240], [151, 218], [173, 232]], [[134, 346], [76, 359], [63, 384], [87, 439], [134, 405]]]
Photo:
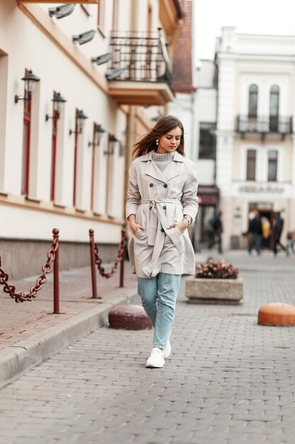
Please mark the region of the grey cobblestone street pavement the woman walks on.
[[0, 442], [293, 444], [295, 329], [257, 313], [295, 304], [295, 255], [225, 256], [243, 301], [187, 304], [183, 281], [163, 369], [144, 367], [151, 331], [101, 328], [1, 390]]

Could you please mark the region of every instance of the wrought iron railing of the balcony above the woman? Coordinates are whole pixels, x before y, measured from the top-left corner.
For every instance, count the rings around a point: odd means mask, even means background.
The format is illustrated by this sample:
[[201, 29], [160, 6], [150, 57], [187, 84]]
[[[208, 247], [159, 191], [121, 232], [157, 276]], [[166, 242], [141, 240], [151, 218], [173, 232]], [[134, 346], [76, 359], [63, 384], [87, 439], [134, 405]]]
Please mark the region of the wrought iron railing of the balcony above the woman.
[[161, 30], [156, 33], [113, 31], [110, 35], [111, 58], [105, 77], [132, 82], [167, 82], [170, 62]]

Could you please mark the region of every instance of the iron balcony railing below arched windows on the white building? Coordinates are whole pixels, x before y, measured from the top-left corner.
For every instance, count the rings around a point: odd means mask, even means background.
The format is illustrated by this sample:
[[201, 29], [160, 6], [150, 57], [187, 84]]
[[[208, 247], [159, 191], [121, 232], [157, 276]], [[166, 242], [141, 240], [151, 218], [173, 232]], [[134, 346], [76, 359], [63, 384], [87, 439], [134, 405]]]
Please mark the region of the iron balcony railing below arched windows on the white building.
[[279, 133], [291, 134], [292, 118], [282, 116], [238, 116], [237, 130], [239, 133]]

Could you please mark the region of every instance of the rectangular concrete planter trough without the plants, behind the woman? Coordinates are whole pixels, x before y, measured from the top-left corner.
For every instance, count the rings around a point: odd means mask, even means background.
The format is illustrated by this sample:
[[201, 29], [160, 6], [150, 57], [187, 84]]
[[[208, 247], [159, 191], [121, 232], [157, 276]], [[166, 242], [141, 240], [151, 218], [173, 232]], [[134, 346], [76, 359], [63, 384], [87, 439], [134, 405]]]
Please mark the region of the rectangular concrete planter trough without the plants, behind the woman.
[[199, 304], [238, 304], [243, 298], [243, 279], [200, 279], [185, 282], [185, 296]]

